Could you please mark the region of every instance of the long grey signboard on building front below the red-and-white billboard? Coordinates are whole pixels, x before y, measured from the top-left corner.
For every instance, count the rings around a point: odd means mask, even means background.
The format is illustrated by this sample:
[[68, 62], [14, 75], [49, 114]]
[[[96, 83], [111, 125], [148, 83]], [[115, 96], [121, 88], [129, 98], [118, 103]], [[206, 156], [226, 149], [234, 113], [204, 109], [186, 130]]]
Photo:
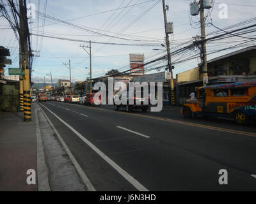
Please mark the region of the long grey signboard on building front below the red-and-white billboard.
[[134, 76], [133, 77], [133, 82], [140, 82], [140, 83], [142, 83], [142, 82], [147, 82], [147, 83], [149, 83], [149, 82], [155, 82], [155, 83], [156, 82], [166, 82], [166, 80], [168, 80], [168, 79], [166, 79], [166, 72], [165, 71], [150, 74], [150, 75]]

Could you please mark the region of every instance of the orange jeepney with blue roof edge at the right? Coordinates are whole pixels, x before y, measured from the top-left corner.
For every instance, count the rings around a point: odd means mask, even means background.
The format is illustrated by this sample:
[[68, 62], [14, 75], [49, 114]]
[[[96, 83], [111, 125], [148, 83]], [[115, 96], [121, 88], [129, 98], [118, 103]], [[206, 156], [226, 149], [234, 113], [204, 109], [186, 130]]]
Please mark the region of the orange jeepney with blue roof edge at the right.
[[256, 118], [256, 82], [200, 87], [196, 98], [188, 99], [180, 112], [185, 118], [228, 117], [248, 124]]

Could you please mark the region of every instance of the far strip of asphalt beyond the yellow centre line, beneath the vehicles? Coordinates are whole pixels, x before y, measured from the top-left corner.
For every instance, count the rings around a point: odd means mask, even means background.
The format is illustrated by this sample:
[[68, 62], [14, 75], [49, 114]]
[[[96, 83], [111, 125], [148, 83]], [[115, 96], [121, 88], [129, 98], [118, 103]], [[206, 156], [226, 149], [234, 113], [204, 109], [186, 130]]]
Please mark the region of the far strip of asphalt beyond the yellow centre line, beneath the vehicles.
[[[100, 105], [97, 108], [102, 108], [104, 110], [111, 110], [114, 111], [113, 105]], [[120, 112], [125, 112], [124, 108], [121, 108], [119, 110]], [[147, 113], [141, 112], [141, 110], [134, 110], [133, 113], [139, 114], [139, 115], [150, 115], [150, 116], [156, 116], [156, 117], [163, 117], [164, 119], [175, 119], [185, 122], [193, 122], [195, 124], [203, 124], [207, 126], [215, 126], [220, 128], [230, 128], [230, 129], [236, 129], [239, 131], [249, 131], [252, 133], [256, 133], [256, 126], [255, 122], [250, 125], [241, 125], [237, 124], [233, 119], [224, 119], [220, 117], [208, 117], [205, 119], [204, 117], [197, 117], [196, 119], [185, 119], [184, 116], [180, 113], [180, 110], [177, 110], [176, 108], [173, 109], [163, 109], [161, 112], [150, 112]]]

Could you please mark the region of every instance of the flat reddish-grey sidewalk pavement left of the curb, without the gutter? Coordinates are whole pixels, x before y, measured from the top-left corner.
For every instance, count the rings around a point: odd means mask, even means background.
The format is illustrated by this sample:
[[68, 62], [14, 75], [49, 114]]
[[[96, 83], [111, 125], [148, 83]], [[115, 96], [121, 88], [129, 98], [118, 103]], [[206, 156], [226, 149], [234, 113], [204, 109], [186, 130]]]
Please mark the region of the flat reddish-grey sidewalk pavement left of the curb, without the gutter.
[[23, 122], [23, 113], [0, 113], [0, 191], [37, 191], [27, 184], [27, 171], [36, 170], [35, 110], [32, 121]]

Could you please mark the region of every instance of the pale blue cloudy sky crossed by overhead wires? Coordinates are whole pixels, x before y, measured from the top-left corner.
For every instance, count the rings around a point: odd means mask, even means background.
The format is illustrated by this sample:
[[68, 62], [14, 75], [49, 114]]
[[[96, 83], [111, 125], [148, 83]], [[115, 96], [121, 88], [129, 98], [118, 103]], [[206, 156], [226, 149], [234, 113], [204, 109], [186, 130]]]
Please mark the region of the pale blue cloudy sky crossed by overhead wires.
[[[3, 0], [3, 3], [6, 5], [7, 1]], [[29, 28], [32, 34], [44, 34], [83, 41], [91, 40], [92, 42], [137, 44], [136, 46], [124, 46], [92, 43], [92, 77], [105, 75], [111, 69], [129, 69], [129, 54], [144, 54], [145, 62], [166, 54], [164, 47], [161, 46], [161, 43], [164, 43], [165, 36], [162, 1], [27, 0], [27, 3], [35, 4], [36, 11], [42, 14], [29, 19]], [[200, 35], [199, 16], [189, 17], [189, 3], [191, 3], [189, 0], [165, 0], [165, 3], [169, 6], [168, 11], [166, 11], [167, 21], [173, 22], [174, 33], [170, 35], [170, 49], [172, 51], [172, 48], [182, 47], [181, 43], [191, 41], [196, 34]], [[221, 3], [228, 6], [227, 18], [219, 17]], [[138, 5], [132, 6], [133, 4]], [[45, 8], [46, 18], [43, 17]], [[116, 10], [117, 8], [119, 9]], [[207, 19], [217, 27], [223, 28], [255, 17], [256, 2], [255, 0], [216, 0], [209, 12], [211, 15], [208, 15]], [[205, 13], [207, 13], [207, 10], [205, 10]], [[69, 23], [75, 24], [79, 28], [62, 24], [52, 20], [49, 16], [68, 20]], [[87, 29], [87, 31], [84, 29]], [[96, 34], [89, 31], [96, 32]], [[216, 28], [207, 25], [206, 34], [211, 33], [211, 31], [216, 31]], [[104, 33], [108, 36], [97, 33]], [[124, 38], [139, 41], [124, 40]], [[0, 43], [1, 46], [10, 49], [10, 59], [12, 59], [13, 64], [7, 66], [4, 72], [5, 75], [8, 75], [7, 68], [19, 68], [19, 42], [15, 39], [12, 29], [3, 17], [0, 17]], [[143, 43], [150, 43], [154, 46], [138, 46], [138, 44]], [[69, 79], [69, 70], [63, 64], [68, 63], [68, 60], [71, 62], [72, 82], [83, 81], [90, 76], [88, 69], [90, 67], [89, 55], [80, 47], [81, 45], [88, 46], [88, 43], [31, 35], [31, 45], [32, 49], [36, 51], [33, 53], [36, 55], [32, 68], [33, 82], [44, 82], [44, 77], [46, 82], [51, 82], [50, 71], [53, 82], [56, 82], [59, 78]], [[255, 45], [255, 43], [252, 43], [252, 45]], [[207, 50], [211, 49], [208, 46]], [[218, 47], [217, 44], [216, 47]], [[86, 50], [89, 52], [88, 48]], [[233, 51], [235, 50], [226, 50], [209, 55], [208, 60]], [[193, 53], [195, 51], [191, 50], [189, 52]], [[182, 56], [179, 57], [179, 59], [182, 59]], [[195, 59], [175, 65], [175, 69], [173, 69], [174, 77], [177, 73], [195, 68], [199, 61], [200, 59]], [[165, 64], [166, 62], [157, 62], [154, 66]], [[146, 74], [156, 71], [153, 70]], [[164, 71], [164, 69], [160, 71]]]

